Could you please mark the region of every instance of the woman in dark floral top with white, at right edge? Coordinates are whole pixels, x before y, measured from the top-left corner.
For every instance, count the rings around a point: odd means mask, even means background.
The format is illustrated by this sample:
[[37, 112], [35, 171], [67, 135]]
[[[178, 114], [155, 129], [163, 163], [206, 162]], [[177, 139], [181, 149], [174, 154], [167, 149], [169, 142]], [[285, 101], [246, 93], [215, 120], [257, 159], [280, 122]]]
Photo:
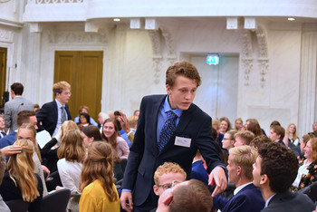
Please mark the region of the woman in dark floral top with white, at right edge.
[[293, 181], [292, 191], [300, 190], [317, 181], [317, 138], [307, 142], [304, 152], [306, 159], [300, 163], [297, 177]]

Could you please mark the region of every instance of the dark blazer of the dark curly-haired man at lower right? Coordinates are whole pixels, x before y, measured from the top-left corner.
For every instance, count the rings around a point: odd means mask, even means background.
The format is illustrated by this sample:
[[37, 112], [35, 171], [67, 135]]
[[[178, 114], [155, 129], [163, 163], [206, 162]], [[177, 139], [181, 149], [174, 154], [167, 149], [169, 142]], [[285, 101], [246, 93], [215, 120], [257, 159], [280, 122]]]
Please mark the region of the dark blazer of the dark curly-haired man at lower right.
[[311, 198], [301, 192], [291, 192], [289, 190], [277, 193], [264, 207], [262, 211], [285, 211], [285, 212], [312, 212], [315, 209], [315, 204]]

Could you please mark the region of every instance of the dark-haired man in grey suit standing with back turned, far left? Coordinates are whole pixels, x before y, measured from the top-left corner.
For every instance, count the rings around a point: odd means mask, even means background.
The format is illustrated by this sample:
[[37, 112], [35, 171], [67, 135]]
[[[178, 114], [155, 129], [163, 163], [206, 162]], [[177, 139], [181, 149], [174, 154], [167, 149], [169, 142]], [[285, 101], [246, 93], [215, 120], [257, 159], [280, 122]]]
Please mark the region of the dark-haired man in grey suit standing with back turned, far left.
[[24, 85], [20, 82], [14, 82], [11, 85], [11, 101], [5, 103], [5, 127], [9, 128], [10, 132], [17, 129], [15, 117], [19, 111], [34, 111], [32, 101], [22, 97]]

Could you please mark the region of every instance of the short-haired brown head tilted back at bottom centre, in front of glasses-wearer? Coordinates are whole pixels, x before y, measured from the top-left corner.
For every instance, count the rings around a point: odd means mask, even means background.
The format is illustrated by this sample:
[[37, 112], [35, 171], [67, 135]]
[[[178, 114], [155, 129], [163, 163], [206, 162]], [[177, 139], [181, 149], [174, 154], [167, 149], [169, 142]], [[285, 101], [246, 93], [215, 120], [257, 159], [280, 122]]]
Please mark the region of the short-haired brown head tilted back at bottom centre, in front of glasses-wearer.
[[213, 199], [205, 184], [197, 179], [179, 183], [159, 197], [157, 212], [211, 211]]

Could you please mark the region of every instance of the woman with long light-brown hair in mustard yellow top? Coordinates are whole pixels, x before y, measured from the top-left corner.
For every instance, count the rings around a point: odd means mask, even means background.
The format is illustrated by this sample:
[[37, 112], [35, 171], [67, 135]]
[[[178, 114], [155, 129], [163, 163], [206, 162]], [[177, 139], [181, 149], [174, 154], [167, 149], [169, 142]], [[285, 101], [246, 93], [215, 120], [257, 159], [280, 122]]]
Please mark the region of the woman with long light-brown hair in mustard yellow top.
[[112, 178], [112, 164], [110, 144], [93, 141], [82, 166], [80, 212], [120, 211], [119, 195]]

